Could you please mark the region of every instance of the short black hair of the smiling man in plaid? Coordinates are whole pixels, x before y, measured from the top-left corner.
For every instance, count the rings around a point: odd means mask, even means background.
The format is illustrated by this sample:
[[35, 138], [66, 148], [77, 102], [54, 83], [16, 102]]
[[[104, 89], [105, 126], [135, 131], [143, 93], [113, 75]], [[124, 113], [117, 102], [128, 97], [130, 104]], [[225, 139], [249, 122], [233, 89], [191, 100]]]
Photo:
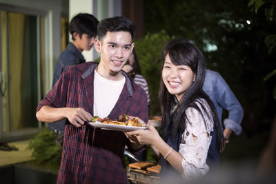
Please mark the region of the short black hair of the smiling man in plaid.
[[107, 32], [129, 32], [131, 38], [134, 37], [135, 26], [132, 24], [132, 21], [125, 17], [112, 17], [108, 19], [103, 19], [98, 25], [98, 37], [101, 40], [106, 36]]

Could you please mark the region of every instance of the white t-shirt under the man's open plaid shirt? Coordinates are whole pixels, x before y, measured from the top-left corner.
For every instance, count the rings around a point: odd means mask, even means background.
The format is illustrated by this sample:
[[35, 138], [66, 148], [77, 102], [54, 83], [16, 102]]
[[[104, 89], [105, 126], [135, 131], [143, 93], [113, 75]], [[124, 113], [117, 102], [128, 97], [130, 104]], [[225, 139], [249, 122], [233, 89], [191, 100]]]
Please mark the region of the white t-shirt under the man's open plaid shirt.
[[107, 117], [115, 107], [121, 90], [124, 88], [126, 78], [120, 81], [111, 81], [95, 70], [94, 75], [94, 116]]

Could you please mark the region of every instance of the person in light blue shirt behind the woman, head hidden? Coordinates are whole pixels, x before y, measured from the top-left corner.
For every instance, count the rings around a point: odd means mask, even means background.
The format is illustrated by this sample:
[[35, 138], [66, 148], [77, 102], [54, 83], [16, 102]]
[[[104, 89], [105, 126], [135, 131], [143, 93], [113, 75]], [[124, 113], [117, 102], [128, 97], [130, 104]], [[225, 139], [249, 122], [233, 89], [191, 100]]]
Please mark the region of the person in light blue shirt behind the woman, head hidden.
[[[244, 116], [242, 105], [218, 72], [206, 70], [203, 90], [215, 104], [221, 127], [224, 127], [224, 139], [228, 143], [232, 132], [236, 135], [242, 133], [241, 123]], [[223, 121], [224, 126], [221, 121], [223, 109], [228, 111], [228, 118]]]

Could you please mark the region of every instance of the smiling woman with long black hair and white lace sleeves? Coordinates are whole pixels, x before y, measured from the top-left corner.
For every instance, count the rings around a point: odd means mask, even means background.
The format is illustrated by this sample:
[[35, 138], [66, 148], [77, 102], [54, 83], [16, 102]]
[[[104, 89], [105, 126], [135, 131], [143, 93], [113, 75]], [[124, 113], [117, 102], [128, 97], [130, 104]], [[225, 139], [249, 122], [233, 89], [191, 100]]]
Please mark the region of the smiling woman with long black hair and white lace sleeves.
[[164, 183], [182, 183], [182, 177], [204, 176], [217, 167], [222, 132], [215, 106], [202, 90], [205, 61], [201, 51], [186, 39], [172, 39], [162, 56], [159, 97], [163, 137], [152, 125], [126, 135], [134, 143], [158, 150]]

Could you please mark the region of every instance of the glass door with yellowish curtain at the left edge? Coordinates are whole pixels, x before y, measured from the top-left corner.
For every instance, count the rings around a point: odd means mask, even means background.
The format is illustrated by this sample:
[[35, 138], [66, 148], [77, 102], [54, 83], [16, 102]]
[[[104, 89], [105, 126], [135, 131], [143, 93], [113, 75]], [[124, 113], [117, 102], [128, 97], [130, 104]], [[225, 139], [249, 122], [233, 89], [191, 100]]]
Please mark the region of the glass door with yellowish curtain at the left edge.
[[0, 141], [38, 132], [44, 66], [43, 17], [1, 11]]

